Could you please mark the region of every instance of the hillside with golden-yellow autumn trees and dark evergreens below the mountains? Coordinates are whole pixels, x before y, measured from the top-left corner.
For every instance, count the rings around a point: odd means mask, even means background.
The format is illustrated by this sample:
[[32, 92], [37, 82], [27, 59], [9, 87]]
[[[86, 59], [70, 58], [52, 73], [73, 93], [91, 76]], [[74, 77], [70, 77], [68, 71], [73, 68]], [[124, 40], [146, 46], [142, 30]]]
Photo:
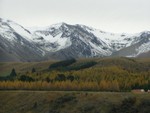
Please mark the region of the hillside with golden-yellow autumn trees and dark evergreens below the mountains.
[[1, 90], [150, 89], [150, 59], [95, 58], [0, 63]]

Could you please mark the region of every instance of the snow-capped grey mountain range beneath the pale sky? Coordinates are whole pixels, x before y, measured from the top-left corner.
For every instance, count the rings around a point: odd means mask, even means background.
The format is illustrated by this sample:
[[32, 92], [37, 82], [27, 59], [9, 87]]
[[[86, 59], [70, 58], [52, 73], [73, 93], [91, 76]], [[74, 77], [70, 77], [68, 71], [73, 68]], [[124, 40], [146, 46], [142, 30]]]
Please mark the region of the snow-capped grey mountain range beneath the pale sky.
[[1, 62], [116, 56], [150, 57], [150, 31], [115, 34], [67, 23], [26, 29], [0, 18]]

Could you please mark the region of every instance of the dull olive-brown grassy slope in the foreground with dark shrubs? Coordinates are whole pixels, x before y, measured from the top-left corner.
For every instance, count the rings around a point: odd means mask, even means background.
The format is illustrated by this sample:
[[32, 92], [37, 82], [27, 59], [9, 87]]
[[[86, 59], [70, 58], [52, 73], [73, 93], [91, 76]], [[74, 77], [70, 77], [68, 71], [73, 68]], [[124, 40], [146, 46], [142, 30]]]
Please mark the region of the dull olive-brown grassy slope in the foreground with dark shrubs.
[[149, 113], [150, 94], [1, 91], [0, 113]]

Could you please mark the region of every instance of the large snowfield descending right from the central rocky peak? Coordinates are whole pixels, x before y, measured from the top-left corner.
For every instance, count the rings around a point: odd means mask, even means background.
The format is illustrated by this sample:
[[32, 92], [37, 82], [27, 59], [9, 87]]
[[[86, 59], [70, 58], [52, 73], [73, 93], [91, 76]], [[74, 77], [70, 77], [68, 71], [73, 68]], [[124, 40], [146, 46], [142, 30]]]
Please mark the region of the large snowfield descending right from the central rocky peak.
[[104, 42], [105, 43], [104, 45], [107, 45], [108, 48], [113, 48], [116, 51], [124, 47], [130, 46], [132, 40], [128, 40], [128, 38], [134, 36], [133, 34], [126, 34], [126, 33], [122, 34], [109, 33], [85, 25], [80, 26], [89, 33], [92, 33], [94, 36], [96, 36], [99, 41], [101, 41], [102, 43]]

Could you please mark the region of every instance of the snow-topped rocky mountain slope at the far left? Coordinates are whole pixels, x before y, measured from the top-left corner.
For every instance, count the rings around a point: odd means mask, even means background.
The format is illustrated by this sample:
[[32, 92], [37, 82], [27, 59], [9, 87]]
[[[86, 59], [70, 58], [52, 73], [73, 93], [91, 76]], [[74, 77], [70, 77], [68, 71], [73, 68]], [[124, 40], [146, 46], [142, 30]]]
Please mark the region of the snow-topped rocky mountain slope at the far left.
[[0, 19], [0, 61], [37, 61], [42, 50], [32, 41], [30, 31], [9, 21]]

